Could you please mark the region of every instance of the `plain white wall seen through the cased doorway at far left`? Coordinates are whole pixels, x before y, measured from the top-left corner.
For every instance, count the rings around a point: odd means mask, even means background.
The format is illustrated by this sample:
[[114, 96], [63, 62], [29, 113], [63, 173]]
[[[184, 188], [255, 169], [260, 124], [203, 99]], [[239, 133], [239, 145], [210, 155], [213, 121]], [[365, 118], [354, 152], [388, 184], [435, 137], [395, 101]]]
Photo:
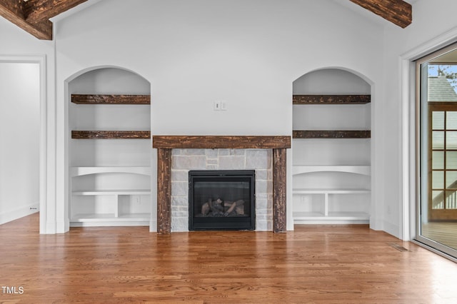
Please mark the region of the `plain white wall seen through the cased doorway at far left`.
[[0, 224], [39, 208], [39, 76], [39, 64], [0, 60]]

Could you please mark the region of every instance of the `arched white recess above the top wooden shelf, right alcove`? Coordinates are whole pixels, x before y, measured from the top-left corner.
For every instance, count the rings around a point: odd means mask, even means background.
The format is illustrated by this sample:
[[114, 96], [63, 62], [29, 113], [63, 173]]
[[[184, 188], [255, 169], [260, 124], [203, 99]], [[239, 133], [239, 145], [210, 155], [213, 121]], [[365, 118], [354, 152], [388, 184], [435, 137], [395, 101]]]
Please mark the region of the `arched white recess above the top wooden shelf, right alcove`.
[[343, 69], [319, 69], [293, 81], [293, 95], [369, 95], [371, 85]]

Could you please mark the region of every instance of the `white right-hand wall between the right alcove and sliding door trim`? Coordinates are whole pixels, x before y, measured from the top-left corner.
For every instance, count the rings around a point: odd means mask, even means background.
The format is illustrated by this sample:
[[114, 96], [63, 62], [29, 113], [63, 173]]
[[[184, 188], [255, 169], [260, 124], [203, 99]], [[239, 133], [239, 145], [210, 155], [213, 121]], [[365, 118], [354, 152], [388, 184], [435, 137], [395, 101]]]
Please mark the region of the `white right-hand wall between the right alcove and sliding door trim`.
[[[405, 105], [414, 103], [413, 92], [408, 95], [408, 88], [413, 87], [414, 75], [408, 78], [408, 71], [403, 70], [402, 61], [411, 61], [427, 53], [439, 49], [446, 43], [457, 39], [457, 2], [452, 0], [416, 1], [413, 4], [413, 23], [400, 29], [396, 26], [386, 26], [384, 44], [385, 51], [383, 62], [385, 64], [383, 90], [386, 93], [385, 108], [380, 116], [383, 121], [383, 138], [386, 149], [383, 150], [383, 176], [385, 185], [385, 201], [381, 211], [384, 219], [384, 230], [400, 238], [408, 239], [407, 224], [409, 218], [405, 212], [414, 211], [413, 192], [403, 193], [403, 183], [408, 188], [410, 181], [402, 181], [403, 165], [408, 165], [408, 160], [403, 161], [402, 143], [411, 139], [413, 141], [413, 123], [411, 124], [411, 138], [402, 138], [403, 119], [402, 102]], [[408, 70], [408, 69], [406, 69]], [[411, 81], [411, 83], [409, 82]], [[408, 108], [406, 108], [408, 110]], [[411, 115], [414, 115], [411, 113]], [[408, 117], [408, 113], [405, 113]], [[407, 128], [409, 126], [406, 126]], [[406, 129], [406, 133], [408, 130]], [[407, 152], [407, 151], [406, 151]], [[411, 151], [414, 155], [414, 151]], [[411, 163], [413, 165], [413, 163]], [[414, 176], [411, 181], [414, 182]], [[403, 208], [403, 197], [410, 197], [411, 201]]]

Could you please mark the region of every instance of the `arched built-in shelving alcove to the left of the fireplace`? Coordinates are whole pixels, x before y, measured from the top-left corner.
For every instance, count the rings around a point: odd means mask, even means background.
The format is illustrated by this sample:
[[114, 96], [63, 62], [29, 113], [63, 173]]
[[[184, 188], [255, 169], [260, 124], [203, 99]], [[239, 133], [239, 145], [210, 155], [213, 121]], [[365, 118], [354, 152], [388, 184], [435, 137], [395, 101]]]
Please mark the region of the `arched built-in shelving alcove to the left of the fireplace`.
[[150, 83], [104, 68], [68, 87], [70, 226], [149, 226]]

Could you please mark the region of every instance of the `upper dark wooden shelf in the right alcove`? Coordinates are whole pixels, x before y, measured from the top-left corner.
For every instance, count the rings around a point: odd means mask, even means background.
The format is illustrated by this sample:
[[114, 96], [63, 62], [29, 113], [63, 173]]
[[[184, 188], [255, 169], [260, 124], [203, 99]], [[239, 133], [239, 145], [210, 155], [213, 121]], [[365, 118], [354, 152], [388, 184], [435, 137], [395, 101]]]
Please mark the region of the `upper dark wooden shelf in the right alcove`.
[[365, 104], [370, 95], [293, 95], [293, 104]]

